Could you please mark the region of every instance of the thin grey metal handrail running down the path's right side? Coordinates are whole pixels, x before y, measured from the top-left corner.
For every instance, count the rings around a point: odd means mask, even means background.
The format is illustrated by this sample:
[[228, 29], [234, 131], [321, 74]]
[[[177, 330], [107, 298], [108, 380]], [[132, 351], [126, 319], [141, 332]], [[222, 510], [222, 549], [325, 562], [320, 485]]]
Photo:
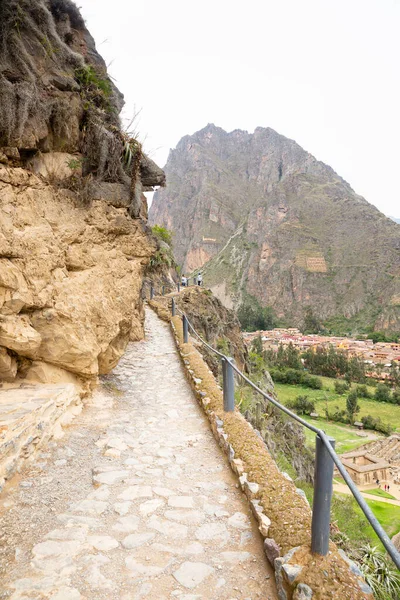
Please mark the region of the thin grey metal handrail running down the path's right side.
[[[195, 330], [195, 328], [193, 327], [193, 325], [191, 324], [191, 322], [187, 318], [187, 315], [182, 310], [180, 310], [176, 306], [175, 306], [175, 310], [182, 315], [182, 317], [183, 317], [184, 320], [186, 320], [188, 328], [199, 339], [199, 341], [204, 346], [206, 346], [206, 348], [208, 348], [211, 352], [213, 352], [214, 354], [216, 354], [217, 356], [219, 356], [222, 359], [222, 361], [224, 361], [223, 362], [223, 365], [225, 364], [225, 368], [223, 369], [224, 375], [226, 374], [227, 367], [230, 366], [237, 373], [237, 375], [239, 375], [256, 392], [258, 392], [259, 394], [261, 394], [261, 396], [263, 396], [266, 400], [268, 400], [268, 402], [270, 402], [271, 404], [273, 404], [274, 406], [276, 406], [279, 410], [281, 410], [282, 412], [286, 413], [289, 417], [291, 417], [292, 419], [296, 420], [298, 423], [300, 423], [304, 427], [307, 427], [307, 429], [310, 429], [311, 431], [313, 431], [317, 435], [317, 438], [319, 438], [320, 441], [322, 442], [322, 445], [324, 447], [325, 453], [327, 452], [330, 455], [332, 461], [335, 463], [336, 467], [338, 468], [338, 471], [340, 472], [340, 474], [342, 475], [343, 479], [345, 480], [347, 486], [349, 487], [350, 491], [352, 492], [354, 498], [356, 499], [357, 503], [359, 504], [361, 510], [363, 511], [363, 513], [366, 516], [367, 520], [369, 521], [370, 525], [372, 526], [372, 528], [374, 529], [375, 533], [377, 534], [377, 536], [381, 540], [381, 542], [382, 542], [383, 546], [385, 547], [385, 549], [387, 550], [389, 556], [393, 560], [393, 562], [396, 565], [396, 567], [398, 569], [400, 569], [400, 553], [398, 552], [398, 550], [396, 549], [396, 547], [394, 546], [394, 544], [390, 540], [389, 536], [387, 535], [387, 533], [385, 532], [385, 530], [383, 529], [383, 527], [381, 526], [381, 524], [379, 523], [379, 521], [375, 517], [374, 513], [372, 512], [372, 510], [370, 509], [370, 507], [368, 506], [368, 504], [366, 503], [366, 501], [364, 500], [364, 498], [362, 497], [362, 495], [361, 495], [360, 491], [358, 490], [357, 486], [354, 484], [353, 480], [351, 479], [351, 477], [347, 473], [346, 468], [344, 467], [344, 465], [341, 462], [339, 456], [336, 454], [336, 452], [334, 450], [334, 447], [333, 447], [334, 446], [334, 440], [332, 438], [328, 437], [326, 435], [326, 433], [322, 429], [318, 429], [317, 427], [314, 427], [313, 425], [311, 425], [310, 423], [308, 423], [306, 420], [304, 420], [301, 417], [299, 417], [296, 413], [294, 413], [291, 410], [289, 410], [288, 408], [286, 408], [286, 406], [283, 406], [282, 404], [280, 404], [277, 400], [275, 400], [275, 398], [273, 398], [272, 396], [270, 396], [269, 394], [267, 394], [266, 392], [264, 392], [263, 390], [261, 390], [244, 373], [242, 373], [242, 371], [240, 371], [240, 369], [238, 369], [238, 367], [233, 363], [233, 361], [232, 361], [232, 359], [230, 357], [226, 356], [222, 352], [219, 352], [218, 350], [216, 350], [215, 348], [213, 348], [208, 342], [206, 342], [200, 336], [200, 334]], [[321, 453], [321, 450], [319, 450], [319, 452], [318, 452], [318, 444], [317, 444], [316, 463], [319, 460], [318, 453]], [[321, 461], [321, 465], [324, 464], [325, 467], [326, 467], [326, 458], [325, 457], [320, 457], [320, 461]], [[318, 465], [316, 464], [316, 475], [318, 473], [317, 466]], [[333, 474], [333, 465], [332, 465], [332, 474]], [[323, 477], [324, 473], [321, 473], [320, 475], [322, 475], [322, 477]], [[331, 496], [332, 496], [332, 476], [330, 477], [330, 479], [331, 479], [331, 481], [330, 481], [330, 490], [329, 490], [329, 486], [328, 486], [328, 490], [327, 490], [328, 491], [327, 495], [329, 497], [328, 498], [326, 498], [326, 497], [324, 498], [324, 504], [325, 505], [327, 504], [327, 505], [324, 508], [321, 509], [321, 510], [323, 510], [325, 512], [325, 516], [324, 515], [322, 515], [322, 516], [320, 515], [320, 519], [317, 519], [317, 521], [319, 523], [321, 523], [321, 521], [322, 522], [325, 521], [325, 528], [326, 528], [326, 519], [328, 519], [328, 525], [330, 525], [330, 505], [331, 505]], [[315, 482], [314, 482], [314, 494], [316, 493], [316, 491], [318, 492], [319, 484], [321, 484], [322, 488], [323, 487], [326, 488], [326, 478], [325, 478], [325, 481], [317, 481], [317, 480], [315, 480]], [[326, 496], [326, 494], [325, 494], [325, 496]], [[329, 500], [328, 503], [326, 503], [327, 499]], [[314, 496], [314, 503], [315, 503], [315, 496]], [[315, 504], [314, 504], [314, 507], [315, 507]], [[314, 511], [313, 511], [313, 518], [314, 518]], [[323, 537], [323, 534], [321, 534], [320, 532], [317, 532], [317, 531], [313, 532], [312, 531], [312, 546], [314, 545], [314, 543], [315, 543], [316, 547], [319, 547], [319, 546], [322, 545], [323, 550], [321, 552], [317, 551], [317, 553], [326, 555], [327, 552], [328, 552], [328, 548], [329, 548], [329, 535], [328, 535], [328, 539], [325, 539], [325, 540], [322, 540], [322, 541], [321, 541], [321, 536]]]

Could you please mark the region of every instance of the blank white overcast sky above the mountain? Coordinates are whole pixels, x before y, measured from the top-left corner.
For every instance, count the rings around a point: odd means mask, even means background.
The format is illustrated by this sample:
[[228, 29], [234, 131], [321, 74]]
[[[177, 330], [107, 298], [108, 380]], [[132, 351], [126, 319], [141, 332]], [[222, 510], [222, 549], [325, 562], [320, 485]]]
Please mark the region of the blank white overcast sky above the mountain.
[[272, 127], [400, 216], [400, 0], [77, 0], [163, 166], [215, 123]]

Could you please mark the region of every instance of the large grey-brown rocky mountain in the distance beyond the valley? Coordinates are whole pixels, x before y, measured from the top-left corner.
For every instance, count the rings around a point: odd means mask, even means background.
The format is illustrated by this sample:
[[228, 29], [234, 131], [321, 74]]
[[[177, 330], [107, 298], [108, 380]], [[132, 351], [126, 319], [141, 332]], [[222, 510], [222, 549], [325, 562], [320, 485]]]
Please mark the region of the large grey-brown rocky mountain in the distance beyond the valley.
[[400, 228], [329, 166], [272, 129], [208, 125], [171, 151], [151, 223], [229, 307], [257, 298], [301, 324], [400, 330]]

